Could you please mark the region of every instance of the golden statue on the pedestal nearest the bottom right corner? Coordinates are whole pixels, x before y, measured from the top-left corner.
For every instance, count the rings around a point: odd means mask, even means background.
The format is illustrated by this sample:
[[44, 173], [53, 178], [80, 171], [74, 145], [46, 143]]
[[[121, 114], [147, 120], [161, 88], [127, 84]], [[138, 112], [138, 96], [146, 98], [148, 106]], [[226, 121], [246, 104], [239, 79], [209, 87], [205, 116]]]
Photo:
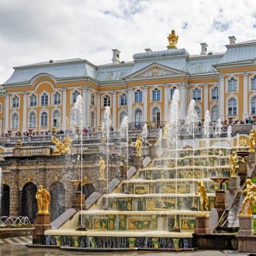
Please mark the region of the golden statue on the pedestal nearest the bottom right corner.
[[241, 214], [240, 216], [244, 215], [244, 207], [248, 202], [248, 207], [245, 215], [252, 216], [252, 211], [253, 211], [253, 201], [256, 199], [255, 198], [255, 193], [256, 193], [256, 185], [252, 183], [252, 180], [247, 179], [246, 180], [246, 189], [241, 191], [242, 193], [246, 193], [246, 196], [243, 200], [242, 204], [242, 209], [241, 209]]

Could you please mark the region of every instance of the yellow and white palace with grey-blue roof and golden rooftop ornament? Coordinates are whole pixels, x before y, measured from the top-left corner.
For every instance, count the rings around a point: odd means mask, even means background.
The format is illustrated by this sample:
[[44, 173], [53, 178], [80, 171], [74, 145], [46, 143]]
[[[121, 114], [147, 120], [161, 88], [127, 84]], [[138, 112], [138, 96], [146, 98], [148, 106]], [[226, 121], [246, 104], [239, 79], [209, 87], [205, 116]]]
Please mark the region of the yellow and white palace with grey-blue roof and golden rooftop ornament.
[[2, 84], [0, 132], [70, 129], [78, 95], [83, 97], [84, 127], [99, 127], [106, 106], [114, 129], [125, 115], [133, 124], [160, 124], [168, 120], [175, 88], [181, 119], [191, 99], [199, 120], [207, 109], [212, 121], [256, 116], [256, 40], [236, 43], [229, 36], [225, 52], [208, 52], [202, 43], [198, 55], [177, 49], [175, 31], [168, 40], [166, 50], [145, 49], [128, 62], [113, 49], [112, 63], [106, 65], [73, 59], [14, 67]]

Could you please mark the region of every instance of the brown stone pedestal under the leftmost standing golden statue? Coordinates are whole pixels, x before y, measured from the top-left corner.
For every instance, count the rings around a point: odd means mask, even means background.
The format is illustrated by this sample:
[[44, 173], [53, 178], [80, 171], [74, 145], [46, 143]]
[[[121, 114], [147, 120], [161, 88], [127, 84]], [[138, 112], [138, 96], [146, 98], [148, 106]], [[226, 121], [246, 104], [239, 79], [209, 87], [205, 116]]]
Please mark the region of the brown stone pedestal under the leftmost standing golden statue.
[[33, 231], [33, 244], [44, 244], [44, 232], [51, 228], [50, 214], [37, 214], [35, 230]]

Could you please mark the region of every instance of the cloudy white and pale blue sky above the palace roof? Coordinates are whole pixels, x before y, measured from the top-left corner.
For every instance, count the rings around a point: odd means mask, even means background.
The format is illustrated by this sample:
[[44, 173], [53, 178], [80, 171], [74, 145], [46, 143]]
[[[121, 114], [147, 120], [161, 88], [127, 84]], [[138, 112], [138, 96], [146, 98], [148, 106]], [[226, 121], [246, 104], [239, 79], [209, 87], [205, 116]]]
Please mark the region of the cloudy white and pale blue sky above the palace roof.
[[166, 49], [172, 29], [179, 48], [223, 52], [228, 36], [256, 39], [255, 0], [1, 0], [0, 84], [12, 67], [84, 58], [111, 63], [111, 49], [131, 61], [145, 48]]

